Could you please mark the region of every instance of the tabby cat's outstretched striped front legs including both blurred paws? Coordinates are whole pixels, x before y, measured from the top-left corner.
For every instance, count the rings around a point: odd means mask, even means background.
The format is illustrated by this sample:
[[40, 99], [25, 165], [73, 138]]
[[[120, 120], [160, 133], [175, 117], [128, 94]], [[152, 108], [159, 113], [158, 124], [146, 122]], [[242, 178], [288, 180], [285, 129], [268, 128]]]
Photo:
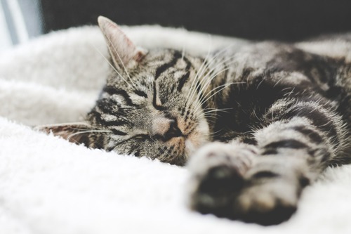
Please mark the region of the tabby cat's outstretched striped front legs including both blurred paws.
[[190, 207], [265, 225], [295, 212], [305, 186], [340, 157], [343, 124], [327, 103], [279, 100], [253, 131], [256, 145], [211, 143], [190, 160]]

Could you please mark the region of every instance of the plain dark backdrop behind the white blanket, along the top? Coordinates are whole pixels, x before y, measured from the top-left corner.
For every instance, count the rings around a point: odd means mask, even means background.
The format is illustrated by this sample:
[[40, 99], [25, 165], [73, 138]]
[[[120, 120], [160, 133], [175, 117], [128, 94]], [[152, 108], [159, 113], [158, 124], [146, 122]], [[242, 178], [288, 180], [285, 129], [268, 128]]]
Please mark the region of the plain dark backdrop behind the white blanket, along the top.
[[351, 32], [350, 0], [41, 0], [44, 32], [96, 25], [158, 24], [246, 39], [296, 41]]

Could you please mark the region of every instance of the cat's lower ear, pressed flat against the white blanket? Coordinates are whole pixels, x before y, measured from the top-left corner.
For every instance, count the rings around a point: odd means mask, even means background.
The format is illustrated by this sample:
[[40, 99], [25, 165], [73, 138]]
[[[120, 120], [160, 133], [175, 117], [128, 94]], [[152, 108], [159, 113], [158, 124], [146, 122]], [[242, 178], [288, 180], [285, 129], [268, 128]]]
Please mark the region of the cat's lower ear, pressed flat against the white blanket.
[[89, 134], [91, 127], [85, 123], [53, 124], [34, 127], [37, 131], [44, 131], [46, 134], [60, 136], [67, 141], [89, 146]]

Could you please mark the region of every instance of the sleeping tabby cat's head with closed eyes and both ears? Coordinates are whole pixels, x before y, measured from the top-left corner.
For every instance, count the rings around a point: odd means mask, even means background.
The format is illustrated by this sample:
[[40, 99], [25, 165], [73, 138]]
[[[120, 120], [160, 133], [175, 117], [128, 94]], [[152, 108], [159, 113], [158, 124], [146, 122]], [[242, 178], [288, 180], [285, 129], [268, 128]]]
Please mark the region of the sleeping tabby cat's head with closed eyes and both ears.
[[203, 60], [171, 49], [146, 51], [111, 20], [98, 22], [110, 51], [107, 83], [86, 124], [51, 131], [93, 148], [184, 164], [209, 140], [195, 79]]

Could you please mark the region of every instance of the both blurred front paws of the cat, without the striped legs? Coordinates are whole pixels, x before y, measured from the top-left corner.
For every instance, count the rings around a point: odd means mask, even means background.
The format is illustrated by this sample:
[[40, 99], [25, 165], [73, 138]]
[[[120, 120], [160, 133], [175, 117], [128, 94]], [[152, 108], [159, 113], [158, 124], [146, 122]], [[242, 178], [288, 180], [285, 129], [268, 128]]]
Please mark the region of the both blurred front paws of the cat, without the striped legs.
[[256, 152], [251, 145], [224, 143], [199, 150], [189, 164], [190, 207], [202, 214], [263, 225], [289, 219], [304, 178], [289, 162]]

